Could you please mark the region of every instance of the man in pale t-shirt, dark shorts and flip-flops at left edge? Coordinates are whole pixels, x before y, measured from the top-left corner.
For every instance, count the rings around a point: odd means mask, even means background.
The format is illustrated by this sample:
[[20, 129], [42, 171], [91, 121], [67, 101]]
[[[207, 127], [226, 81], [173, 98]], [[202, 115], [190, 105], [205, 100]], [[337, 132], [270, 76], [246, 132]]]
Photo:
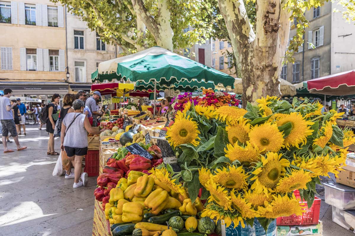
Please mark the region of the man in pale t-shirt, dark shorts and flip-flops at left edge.
[[2, 144], [4, 145], [4, 153], [13, 152], [13, 150], [7, 148], [6, 137], [9, 132], [15, 140], [17, 145], [17, 151], [26, 149], [27, 147], [21, 147], [20, 142], [18, 142], [18, 135], [16, 132], [15, 121], [13, 120], [11, 109], [15, 107], [16, 103], [10, 104], [9, 97], [12, 96], [12, 90], [10, 88], [4, 89], [4, 96], [0, 97], [0, 122], [2, 125]]

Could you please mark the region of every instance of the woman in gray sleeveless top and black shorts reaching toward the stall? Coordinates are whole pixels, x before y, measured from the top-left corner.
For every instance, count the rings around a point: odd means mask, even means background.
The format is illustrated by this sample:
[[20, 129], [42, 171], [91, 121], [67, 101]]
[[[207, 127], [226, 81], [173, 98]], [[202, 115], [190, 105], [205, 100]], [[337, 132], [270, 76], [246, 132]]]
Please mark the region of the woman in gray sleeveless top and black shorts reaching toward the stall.
[[[87, 132], [91, 134], [100, 134], [104, 130], [97, 130], [91, 127], [88, 117], [83, 113], [85, 104], [77, 99], [73, 102], [74, 112], [68, 113], [62, 121], [61, 128], [61, 146], [66, 151], [69, 160], [74, 166], [74, 184], [73, 188], [87, 185], [87, 173], [82, 173], [81, 163], [83, 156], [87, 154]], [[80, 181], [80, 177], [81, 180]]]

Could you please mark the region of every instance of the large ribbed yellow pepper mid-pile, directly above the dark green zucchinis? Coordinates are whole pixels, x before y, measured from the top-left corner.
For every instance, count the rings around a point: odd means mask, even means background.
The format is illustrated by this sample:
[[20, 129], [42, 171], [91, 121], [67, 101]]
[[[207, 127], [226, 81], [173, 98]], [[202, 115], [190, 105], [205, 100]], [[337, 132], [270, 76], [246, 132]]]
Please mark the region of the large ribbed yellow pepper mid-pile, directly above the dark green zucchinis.
[[157, 215], [164, 209], [166, 203], [168, 202], [168, 197], [169, 194], [167, 191], [163, 189], [156, 189], [148, 195], [144, 201], [144, 205], [148, 208], [152, 208], [151, 212], [154, 215]]

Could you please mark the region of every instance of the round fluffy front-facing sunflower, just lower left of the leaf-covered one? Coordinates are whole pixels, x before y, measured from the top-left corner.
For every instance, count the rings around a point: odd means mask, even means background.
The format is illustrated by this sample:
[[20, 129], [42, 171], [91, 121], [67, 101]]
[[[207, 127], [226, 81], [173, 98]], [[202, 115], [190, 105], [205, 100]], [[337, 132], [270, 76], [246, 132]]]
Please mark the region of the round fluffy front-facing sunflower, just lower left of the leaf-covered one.
[[276, 124], [263, 123], [254, 126], [249, 132], [250, 143], [257, 146], [261, 151], [277, 152], [284, 147], [283, 134]]

